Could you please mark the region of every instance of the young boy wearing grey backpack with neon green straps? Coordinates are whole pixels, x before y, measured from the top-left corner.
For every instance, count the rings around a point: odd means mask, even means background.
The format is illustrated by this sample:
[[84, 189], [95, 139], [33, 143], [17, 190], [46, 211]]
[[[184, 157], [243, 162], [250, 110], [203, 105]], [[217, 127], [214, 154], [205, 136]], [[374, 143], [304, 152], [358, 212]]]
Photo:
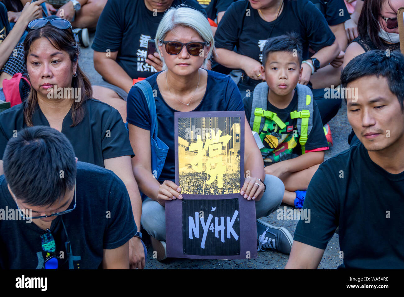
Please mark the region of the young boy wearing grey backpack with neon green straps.
[[302, 47], [295, 34], [268, 39], [261, 66], [266, 83], [243, 99], [252, 131], [263, 144], [265, 173], [284, 182], [282, 202], [297, 208], [302, 207], [305, 190], [328, 150], [313, 95], [309, 87], [297, 83], [301, 63]]

